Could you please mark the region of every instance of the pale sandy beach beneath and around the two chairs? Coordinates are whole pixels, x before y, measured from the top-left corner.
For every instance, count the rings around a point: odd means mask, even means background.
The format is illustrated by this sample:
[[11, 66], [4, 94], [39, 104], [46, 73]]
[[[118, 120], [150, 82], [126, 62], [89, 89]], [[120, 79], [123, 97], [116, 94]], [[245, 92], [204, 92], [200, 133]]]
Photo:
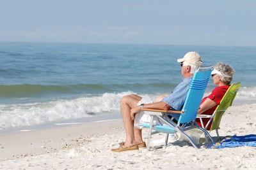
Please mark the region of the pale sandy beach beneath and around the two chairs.
[[[228, 108], [220, 136], [255, 134], [255, 109], [256, 104]], [[216, 136], [214, 131], [211, 134]], [[143, 137], [147, 141], [147, 129], [143, 129]], [[256, 168], [253, 147], [196, 150], [186, 141], [172, 141], [164, 147], [164, 135], [156, 134], [150, 151], [111, 152], [124, 139], [121, 119], [1, 134], [0, 169]]]

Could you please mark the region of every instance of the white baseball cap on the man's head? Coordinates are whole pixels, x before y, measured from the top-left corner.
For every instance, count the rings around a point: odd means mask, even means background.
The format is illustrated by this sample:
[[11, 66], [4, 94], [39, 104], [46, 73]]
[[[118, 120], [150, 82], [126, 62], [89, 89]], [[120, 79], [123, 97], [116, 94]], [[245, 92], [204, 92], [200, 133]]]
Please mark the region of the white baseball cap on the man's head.
[[193, 64], [195, 66], [202, 66], [202, 60], [197, 52], [188, 52], [184, 55], [182, 59], [177, 59], [177, 62], [188, 62], [189, 64]]

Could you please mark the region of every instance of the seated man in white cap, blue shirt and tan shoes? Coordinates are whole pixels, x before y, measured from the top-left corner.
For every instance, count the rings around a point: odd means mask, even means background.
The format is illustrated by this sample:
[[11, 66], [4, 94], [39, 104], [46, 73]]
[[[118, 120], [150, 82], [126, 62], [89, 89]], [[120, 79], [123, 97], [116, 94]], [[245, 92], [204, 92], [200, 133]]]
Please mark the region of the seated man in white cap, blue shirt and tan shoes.
[[[177, 62], [180, 62], [181, 74], [184, 79], [175, 87], [170, 95], [158, 97], [160, 100], [155, 103], [148, 101], [146, 103], [142, 97], [135, 94], [122, 97], [120, 110], [124, 122], [126, 139], [125, 142], [120, 143], [118, 148], [113, 148], [113, 152], [138, 150], [138, 148], [146, 147], [141, 136], [140, 127], [134, 127], [135, 115], [137, 115], [135, 122], [143, 121], [143, 108], [156, 110], [182, 109], [188, 94], [189, 85], [193, 78], [193, 73], [198, 67], [202, 66], [202, 60], [197, 52], [188, 52], [182, 59], [178, 59]], [[175, 115], [173, 115], [173, 117], [175, 117]]]

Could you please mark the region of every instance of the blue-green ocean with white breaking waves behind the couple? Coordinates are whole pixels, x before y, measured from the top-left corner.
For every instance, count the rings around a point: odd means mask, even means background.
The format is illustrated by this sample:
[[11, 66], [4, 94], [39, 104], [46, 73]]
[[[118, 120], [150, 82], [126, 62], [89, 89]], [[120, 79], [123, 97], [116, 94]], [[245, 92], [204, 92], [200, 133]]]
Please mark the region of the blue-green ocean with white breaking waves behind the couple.
[[1, 42], [0, 132], [113, 118], [124, 95], [172, 92], [189, 51], [204, 66], [230, 64], [242, 84], [236, 101], [255, 101], [256, 47]]

